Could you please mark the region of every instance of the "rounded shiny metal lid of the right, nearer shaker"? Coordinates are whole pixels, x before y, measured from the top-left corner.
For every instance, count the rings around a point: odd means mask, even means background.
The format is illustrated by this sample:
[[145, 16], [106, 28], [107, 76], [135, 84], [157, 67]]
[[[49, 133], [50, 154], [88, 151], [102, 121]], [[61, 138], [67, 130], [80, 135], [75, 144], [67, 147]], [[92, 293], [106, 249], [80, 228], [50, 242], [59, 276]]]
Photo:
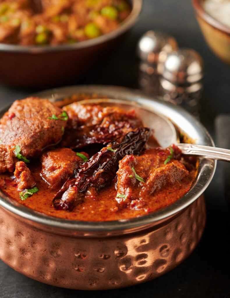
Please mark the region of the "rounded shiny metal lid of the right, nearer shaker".
[[162, 76], [175, 84], [198, 82], [203, 78], [203, 59], [193, 49], [178, 49], [167, 56]]

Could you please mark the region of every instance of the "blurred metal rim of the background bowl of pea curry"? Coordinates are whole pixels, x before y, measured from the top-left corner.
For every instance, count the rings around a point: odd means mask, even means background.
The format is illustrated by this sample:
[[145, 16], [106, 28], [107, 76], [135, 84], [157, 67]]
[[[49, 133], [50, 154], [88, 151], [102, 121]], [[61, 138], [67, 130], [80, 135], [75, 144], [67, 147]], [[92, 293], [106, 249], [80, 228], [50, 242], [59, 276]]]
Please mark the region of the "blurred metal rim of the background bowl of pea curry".
[[89, 39], [86, 41], [81, 41], [76, 44], [62, 44], [62, 45], [58, 45], [58, 46], [51, 46], [51, 45], [21, 46], [21, 45], [0, 43], [0, 52], [18, 52], [18, 53], [40, 54], [40, 53], [46, 53], [46, 52], [84, 49], [87, 47], [102, 44], [106, 41], [109, 41], [111, 39], [118, 37], [122, 33], [129, 30], [137, 21], [138, 16], [141, 12], [141, 8], [142, 8], [142, 0], [133, 0], [131, 13], [121, 23], [121, 26], [119, 26], [117, 29], [115, 29], [107, 34], [101, 35], [97, 38]]

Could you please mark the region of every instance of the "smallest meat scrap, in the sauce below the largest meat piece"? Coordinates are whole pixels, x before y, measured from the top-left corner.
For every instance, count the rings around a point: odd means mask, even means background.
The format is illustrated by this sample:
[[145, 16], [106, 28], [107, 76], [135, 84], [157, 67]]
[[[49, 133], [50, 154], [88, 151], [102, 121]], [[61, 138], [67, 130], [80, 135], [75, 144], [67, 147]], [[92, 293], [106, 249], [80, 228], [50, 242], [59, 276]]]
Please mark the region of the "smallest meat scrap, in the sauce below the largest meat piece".
[[14, 176], [17, 179], [18, 190], [31, 189], [36, 185], [30, 170], [24, 162], [16, 162]]

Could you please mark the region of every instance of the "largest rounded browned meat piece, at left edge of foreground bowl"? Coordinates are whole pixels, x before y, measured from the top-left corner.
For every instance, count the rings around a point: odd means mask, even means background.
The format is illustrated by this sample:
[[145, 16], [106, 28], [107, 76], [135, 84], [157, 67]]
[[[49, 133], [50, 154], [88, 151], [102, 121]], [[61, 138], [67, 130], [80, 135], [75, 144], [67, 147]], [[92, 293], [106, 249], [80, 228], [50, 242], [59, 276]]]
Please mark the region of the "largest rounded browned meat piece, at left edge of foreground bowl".
[[[58, 143], [66, 126], [59, 119], [62, 110], [47, 99], [29, 97], [16, 100], [0, 120], [1, 146], [20, 147], [27, 159]], [[58, 119], [49, 119], [52, 118]]]

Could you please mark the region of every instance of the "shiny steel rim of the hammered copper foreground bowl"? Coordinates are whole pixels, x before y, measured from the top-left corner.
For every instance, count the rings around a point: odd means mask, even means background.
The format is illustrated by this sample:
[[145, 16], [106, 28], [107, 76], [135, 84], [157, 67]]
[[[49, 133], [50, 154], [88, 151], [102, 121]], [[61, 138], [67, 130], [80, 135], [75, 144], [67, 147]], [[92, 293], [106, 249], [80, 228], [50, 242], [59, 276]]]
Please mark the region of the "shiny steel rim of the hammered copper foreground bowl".
[[[85, 85], [85, 86], [70, 86], [63, 87], [59, 89], [51, 89], [43, 92], [38, 92], [33, 94], [33, 96], [38, 96], [41, 98], [48, 98], [51, 101], [57, 100], [57, 98], [63, 98], [65, 96], [71, 96], [73, 94], [93, 94], [98, 93], [99, 95], [107, 95], [114, 99], [124, 98], [125, 100], [137, 102], [140, 105], [146, 106], [149, 105], [150, 108], [153, 108], [155, 112], [160, 113], [160, 109], [166, 111], [166, 113], [161, 113], [165, 117], [168, 117], [167, 112], [170, 114], [175, 114], [174, 117], [177, 117], [179, 120], [185, 121], [187, 127], [191, 127], [193, 131], [197, 131], [197, 136], [203, 144], [214, 146], [214, 142], [207, 132], [206, 128], [198, 122], [191, 114], [183, 110], [179, 106], [175, 106], [171, 103], [166, 103], [162, 101], [160, 98], [153, 98], [146, 95], [143, 95], [138, 90], [132, 90], [124, 87], [116, 87], [116, 86], [93, 86], [93, 85]], [[7, 106], [9, 108], [9, 105]], [[1, 109], [1, 113], [5, 112], [7, 108]], [[175, 123], [175, 121], [174, 121]], [[189, 124], [190, 123], [190, 124]], [[190, 125], [190, 126], [189, 126]], [[212, 181], [212, 178], [216, 169], [216, 160], [210, 160], [201, 158], [200, 159], [200, 169], [197, 174], [197, 178], [195, 183], [192, 185], [191, 189], [188, 193], [186, 193], [182, 198], [177, 200], [175, 203], [169, 205], [168, 207], [162, 208], [156, 212], [142, 215], [136, 218], [130, 219], [121, 219], [118, 221], [103, 221], [103, 222], [95, 222], [95, 221], [71, 221], [68, 219], [61, 219], [57, 217], [52, 217], [49, 215], [45, 215], [43, 213], [32, 210], [28, 207], [17, 203], [13, 199], [10, 199], [1, 191], [0, 196], [0, 206], [5, 209], [23, 217], [30, 221], [44, 224], [47, 226], [53, 226], [61, 229], [69, 229], [69, 230], [79, 230], [79, 231], [98, 231], [98, 232], [108, 232], [116, 231], [116, 230], [129, 230], [133, 228], [138, 228], [141, 226], [146, 226], [150, 224], [154, 224], [160, 220], [169, 218], [172, 215], [175, 215], [177, 212], [180, 212], [187, 206], [189, 206], [192, 202], [194, 202], [208, 187], [209, 183]], [[109, 234], [108, 234], [109, 235]]]

